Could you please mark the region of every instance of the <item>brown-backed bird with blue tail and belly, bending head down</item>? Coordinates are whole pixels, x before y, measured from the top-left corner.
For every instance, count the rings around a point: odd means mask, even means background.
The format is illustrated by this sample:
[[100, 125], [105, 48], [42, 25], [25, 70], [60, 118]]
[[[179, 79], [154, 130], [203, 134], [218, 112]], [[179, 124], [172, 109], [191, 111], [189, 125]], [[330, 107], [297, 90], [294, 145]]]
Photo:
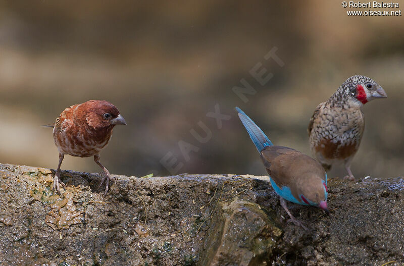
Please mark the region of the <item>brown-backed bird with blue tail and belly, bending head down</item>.
[[285, 199], [301, 205], [312, 205], [328, 212], [327, 174], [320, 163], [312, 157], [284, 146], [274, 146], [264, 132], [241, 109], [238, 116], [269, 174], [275, 192], [279, 194], [282, 207], [294, 224], [305, 228], [286, 206]]

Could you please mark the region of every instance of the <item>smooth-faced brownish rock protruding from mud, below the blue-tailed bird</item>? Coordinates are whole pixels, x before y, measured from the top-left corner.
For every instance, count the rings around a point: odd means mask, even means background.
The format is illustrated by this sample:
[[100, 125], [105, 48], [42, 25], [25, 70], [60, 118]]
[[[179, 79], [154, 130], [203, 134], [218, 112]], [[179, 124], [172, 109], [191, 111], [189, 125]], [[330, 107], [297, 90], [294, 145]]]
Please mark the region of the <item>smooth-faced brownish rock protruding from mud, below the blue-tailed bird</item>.
[[260, 205], [233, 199], [218, 203], [200, 265], [265, 265], [282, 231]]

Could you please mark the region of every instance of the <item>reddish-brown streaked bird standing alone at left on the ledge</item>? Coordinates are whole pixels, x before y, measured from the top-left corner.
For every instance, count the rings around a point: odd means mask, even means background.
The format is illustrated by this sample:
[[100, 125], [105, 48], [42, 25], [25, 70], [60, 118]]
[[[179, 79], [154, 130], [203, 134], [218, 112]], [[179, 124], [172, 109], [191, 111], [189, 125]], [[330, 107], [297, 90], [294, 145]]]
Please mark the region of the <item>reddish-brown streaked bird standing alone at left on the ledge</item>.
[[65, 154], [78, 157], [94, 156], [94, 162], [103, 169], [106, 181], [104, 196], [108, 192], [110, 172], [99, 162], [99, 152], [108, 144], [115, 125], [126, 125], [114, 104], [106, 100], [89, 100], [66, 108], [56, 119], [53, 136], [59, 150], [59, 165], [55, 173], [53, 191], [59, 195], [62, 182], [60, 167]]

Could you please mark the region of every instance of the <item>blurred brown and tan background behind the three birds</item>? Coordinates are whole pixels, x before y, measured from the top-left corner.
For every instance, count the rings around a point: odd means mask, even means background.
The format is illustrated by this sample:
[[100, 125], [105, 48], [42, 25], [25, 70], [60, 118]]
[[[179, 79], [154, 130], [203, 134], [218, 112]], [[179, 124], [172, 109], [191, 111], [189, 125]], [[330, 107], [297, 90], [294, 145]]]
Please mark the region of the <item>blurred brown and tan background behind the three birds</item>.
[[[388, 98], [364, 107], [352, 171], [357, 178], [401, 176], [404, 19], [348, 17], [346, 10], [321, 0], [2, 1], [0, 162], [55, 169], [52, 129], [40, 126], [70, 105], [106, 99], [128, 122], [115, 127], [101, 153], [111, 173], [265, 175], [234, 107], [273, 143], [311, 154], [314, 109], [347, 77], [363, 74]], [[273, 47], [283, 67], [264, 59]], [[259, 63], [273, 74], [264, 86], [249, 73]], [[257, 91], [247, 102], [232, 90], [241, 79]], [[216, 104], [230, 116], [221, 129], [207, 116]], [[206, 136], [199, 121], [211, 132], [205, 143], [190, 133]], [[62, 169], [99, 172], [92, 158], [72, 156]], [[339, 166], [329, 177], [343, 175]]]

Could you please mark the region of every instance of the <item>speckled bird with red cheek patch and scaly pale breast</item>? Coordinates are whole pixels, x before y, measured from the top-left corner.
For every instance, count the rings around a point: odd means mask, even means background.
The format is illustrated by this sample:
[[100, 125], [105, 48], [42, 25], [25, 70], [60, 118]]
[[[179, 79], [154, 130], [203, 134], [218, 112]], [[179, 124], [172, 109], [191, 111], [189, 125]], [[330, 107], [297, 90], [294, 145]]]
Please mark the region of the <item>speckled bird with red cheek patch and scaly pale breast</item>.
[[356, 75], [318, 105], [309, 123], [309, 141], [325, 170], [342, 162], [348, 172], [344, 179], [355, 180], [350, 166], [365, 129], [362, 107], [376, 98], [387, 98], [383, 88], [371, 78]]

